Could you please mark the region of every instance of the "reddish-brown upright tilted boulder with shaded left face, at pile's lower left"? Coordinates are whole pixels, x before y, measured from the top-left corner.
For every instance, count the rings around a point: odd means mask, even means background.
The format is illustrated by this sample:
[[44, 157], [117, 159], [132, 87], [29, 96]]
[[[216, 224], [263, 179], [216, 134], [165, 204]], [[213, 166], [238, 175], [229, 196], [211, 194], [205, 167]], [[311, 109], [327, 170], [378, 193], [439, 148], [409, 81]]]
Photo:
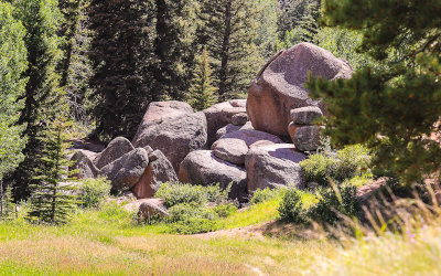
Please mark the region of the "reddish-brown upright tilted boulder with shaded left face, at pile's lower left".
[[133, 188], [138, 199], [152, 198], [162, 183], [178, 181], [173, 166], [160, 150], [150, 153], [149, 161], [142, 178]]

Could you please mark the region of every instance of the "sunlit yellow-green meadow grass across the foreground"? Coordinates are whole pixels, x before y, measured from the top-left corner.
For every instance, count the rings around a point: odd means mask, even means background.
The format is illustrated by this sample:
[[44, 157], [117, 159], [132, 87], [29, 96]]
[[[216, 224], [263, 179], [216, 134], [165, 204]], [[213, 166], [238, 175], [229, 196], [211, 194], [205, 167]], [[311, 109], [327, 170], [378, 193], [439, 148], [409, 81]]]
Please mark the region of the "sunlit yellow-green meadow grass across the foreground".
[[[305, 204], [315, 198], [304, 193]], [[279, 199], [217, 221], [216, 229], [277, 219]], [[405, 234], [335, 241], [245, 235], [173, 235], [132, 223], [107, 205], [78, 211], [65, 226], [0, 223], [0, 275], [439, 275], [441, 220]], [[293, 227], [295, 229], [295, 227]], [[234, 233], [234, 232], [233, 232]], [[273, 235], [278, 236], [278, 235]]]

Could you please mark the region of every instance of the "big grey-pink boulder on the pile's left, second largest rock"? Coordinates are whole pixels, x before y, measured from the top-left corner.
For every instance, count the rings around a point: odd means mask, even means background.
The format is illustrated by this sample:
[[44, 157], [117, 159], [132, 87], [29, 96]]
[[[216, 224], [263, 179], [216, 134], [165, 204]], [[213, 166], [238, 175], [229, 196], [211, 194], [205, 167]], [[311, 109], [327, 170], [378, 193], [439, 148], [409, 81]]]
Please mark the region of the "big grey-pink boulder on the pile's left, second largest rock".
[[149, 106], [133, 146], [161, 150], [178, 172], [186, 155], [207, 149], [207, 123], [203, 113], [193, 113], [185, 103], [166, 103]]

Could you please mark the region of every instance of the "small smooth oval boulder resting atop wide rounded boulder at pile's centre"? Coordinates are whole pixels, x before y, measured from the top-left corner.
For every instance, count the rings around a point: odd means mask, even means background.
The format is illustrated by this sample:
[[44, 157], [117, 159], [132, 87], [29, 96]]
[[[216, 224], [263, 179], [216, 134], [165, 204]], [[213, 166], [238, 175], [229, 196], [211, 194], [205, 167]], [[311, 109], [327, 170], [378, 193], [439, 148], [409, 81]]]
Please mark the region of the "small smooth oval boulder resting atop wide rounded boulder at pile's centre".
[[226, 138], [215, 141], [212, 150], [217, 158], [235, 164], [244, 164], [248, 146], [244, 140]]

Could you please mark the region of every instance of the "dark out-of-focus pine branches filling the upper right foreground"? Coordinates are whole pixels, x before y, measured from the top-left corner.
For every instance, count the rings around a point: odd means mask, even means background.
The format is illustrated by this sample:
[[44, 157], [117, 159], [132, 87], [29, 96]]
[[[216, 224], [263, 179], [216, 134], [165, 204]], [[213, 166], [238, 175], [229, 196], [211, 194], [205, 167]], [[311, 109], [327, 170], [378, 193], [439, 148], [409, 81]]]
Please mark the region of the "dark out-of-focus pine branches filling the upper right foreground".
[[326, 105], [333, 142], [367, 145], [377, 168], [405, 183], [439, 170], [441, 2], [327, 0], [324, 8], [324, 23], [362, 31], [358, 50], [388, 65], [347, 81], [309, 81]]

